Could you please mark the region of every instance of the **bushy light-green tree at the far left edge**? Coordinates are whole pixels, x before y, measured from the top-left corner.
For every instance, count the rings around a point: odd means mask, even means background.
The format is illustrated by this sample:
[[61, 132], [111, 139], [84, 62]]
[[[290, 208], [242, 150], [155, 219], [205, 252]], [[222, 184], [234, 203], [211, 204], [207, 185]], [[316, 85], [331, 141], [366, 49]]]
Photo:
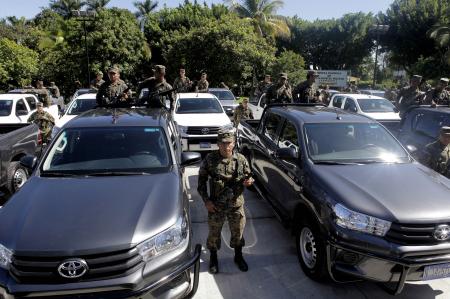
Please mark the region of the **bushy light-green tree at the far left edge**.
[[31, 83], [38, 71], [38, 54], [7, 38], [0, 39], [0, 89]]

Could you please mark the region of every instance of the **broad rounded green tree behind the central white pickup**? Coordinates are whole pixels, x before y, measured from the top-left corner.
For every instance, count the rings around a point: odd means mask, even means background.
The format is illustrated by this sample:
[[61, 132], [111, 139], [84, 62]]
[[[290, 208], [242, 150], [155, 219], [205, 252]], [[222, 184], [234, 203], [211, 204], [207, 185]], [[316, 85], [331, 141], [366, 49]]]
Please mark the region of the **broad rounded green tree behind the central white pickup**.
[[173, 31], [164, 35], [163, 45], [170, 70], [184, 64], [194, 78], [206, 71], [211, 86], [222, 81], [238, 85], [251, 82], [253, 70], [267, 69], [275, 53], [275, 48], [257, 35], [248, 21], [233, 16]]

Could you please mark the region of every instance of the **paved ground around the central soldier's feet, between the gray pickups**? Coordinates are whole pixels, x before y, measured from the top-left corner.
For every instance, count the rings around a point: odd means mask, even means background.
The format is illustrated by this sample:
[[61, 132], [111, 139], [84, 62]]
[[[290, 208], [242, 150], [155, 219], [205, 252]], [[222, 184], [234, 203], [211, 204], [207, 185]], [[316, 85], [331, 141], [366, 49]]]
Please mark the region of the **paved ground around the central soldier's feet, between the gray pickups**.
[[[187, 169], [190, 188], [194, 239], [205, 244], [207, 236], [206, 210], [196, 191], [198, 167]], [[245, 229], [245, 257], [250, 270], [240, 272], [228, 247], [230, 233], [227, 224], [222, 232], [219, 251], [220, 274], [208, 273], [209, 255], [203, 248], [200, 285], [194, 298], [388, 298], [376, 284], [357, 282], [348, 284], [319, 284], [308, 279], [298, 264], [295, 243], [273, 215], [270, 207], [255, 193], [246, 191], [247, 227]], [[429, 284], [408, 283], [396, 298], [450, 298], [450, 279]]]

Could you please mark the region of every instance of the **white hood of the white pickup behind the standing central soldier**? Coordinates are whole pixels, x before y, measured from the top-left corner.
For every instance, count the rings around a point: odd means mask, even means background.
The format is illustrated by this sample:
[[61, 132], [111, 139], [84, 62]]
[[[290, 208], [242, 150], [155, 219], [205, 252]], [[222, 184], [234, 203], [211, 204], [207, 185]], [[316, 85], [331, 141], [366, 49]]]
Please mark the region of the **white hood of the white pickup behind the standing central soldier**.
[[185, 127], [221, 127], [231, 123], [225, 113], [175, 114], [174, 119]]

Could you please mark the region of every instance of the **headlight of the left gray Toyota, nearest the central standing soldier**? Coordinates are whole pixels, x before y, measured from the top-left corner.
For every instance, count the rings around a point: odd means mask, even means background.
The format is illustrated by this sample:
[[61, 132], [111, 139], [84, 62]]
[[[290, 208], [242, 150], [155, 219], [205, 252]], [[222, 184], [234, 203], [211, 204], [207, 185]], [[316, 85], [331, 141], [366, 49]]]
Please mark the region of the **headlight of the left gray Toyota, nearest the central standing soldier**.
[[172, 227], [142, 242], [137, 248], [144, 261], [148, 262], [158, 255], [185, 245], [188, 241], [187, 236], [187, 215], [184, 214]]

